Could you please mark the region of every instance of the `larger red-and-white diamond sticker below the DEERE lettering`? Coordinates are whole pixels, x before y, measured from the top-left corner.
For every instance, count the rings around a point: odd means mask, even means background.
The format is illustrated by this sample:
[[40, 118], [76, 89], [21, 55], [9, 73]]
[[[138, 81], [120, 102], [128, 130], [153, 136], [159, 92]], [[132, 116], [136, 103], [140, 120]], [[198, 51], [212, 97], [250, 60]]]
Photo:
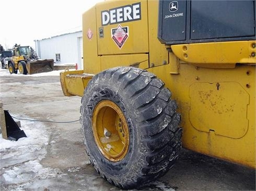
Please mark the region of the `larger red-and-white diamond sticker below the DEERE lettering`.
[[122, 27], [119, 24], [118, 28], [111, 29], [111, 34], [113, 41], [121, 49], [129, 36], [129, 27]]

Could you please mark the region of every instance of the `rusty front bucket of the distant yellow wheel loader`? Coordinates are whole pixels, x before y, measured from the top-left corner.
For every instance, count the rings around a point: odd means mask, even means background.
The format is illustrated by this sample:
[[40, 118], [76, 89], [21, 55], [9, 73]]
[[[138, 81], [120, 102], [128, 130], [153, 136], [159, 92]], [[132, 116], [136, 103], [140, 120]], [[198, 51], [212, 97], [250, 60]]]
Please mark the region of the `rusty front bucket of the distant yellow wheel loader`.
[[42, 73], [42, 72], [51, 72], [53, 71], [53, 65], [54, 65], [53, 59], [45, 59], [45, 60], [30, 61], [27, 63], [26, 67], [28, 70], [28, 74], [34, 74], [34, 73]]

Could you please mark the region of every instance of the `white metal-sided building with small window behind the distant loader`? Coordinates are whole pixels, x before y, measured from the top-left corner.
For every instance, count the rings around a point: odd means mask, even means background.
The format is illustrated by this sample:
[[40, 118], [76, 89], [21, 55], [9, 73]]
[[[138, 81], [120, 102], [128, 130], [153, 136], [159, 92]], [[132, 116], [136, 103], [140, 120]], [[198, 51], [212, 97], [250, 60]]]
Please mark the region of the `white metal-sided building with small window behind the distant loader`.
[[53, 58], [55, 63], [77, 63], [83, 69], [83, 34], [82, 31], [53, 36], [48, 39], [35, 40], [38, 57]]

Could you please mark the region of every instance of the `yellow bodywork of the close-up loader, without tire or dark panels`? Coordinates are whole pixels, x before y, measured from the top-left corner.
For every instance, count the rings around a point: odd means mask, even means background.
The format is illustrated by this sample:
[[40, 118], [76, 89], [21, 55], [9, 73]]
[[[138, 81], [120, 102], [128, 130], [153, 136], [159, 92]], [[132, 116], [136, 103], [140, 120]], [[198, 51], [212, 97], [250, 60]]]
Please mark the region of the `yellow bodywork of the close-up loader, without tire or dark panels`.
[[[141, 3], [141, 19], [102, 26], [102, 11], [136, 3]], [[121, 48], [111, 34], [119, 25], [129, 28]], [[116, 66], [147, 69], [177, 100], [183, 147], [255, 168], [255, 41], [165, 46], [157, 39], [157, 26], [158, 1], [92, 7], [83, 15], [83, 73]], [[66, 92], [82, 94], [86, 84], [79, 81], [69, 81]]]

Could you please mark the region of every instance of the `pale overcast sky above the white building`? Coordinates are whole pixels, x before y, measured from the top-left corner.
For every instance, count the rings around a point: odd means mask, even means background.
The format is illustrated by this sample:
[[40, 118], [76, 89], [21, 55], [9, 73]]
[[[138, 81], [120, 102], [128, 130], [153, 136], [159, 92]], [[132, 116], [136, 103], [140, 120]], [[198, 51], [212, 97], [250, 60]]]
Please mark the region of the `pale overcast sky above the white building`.
[[82, 14], [103, 0], [4, 0], [0, 3], [0, 44], [34, 47], [41, 40], [82, 29]]

